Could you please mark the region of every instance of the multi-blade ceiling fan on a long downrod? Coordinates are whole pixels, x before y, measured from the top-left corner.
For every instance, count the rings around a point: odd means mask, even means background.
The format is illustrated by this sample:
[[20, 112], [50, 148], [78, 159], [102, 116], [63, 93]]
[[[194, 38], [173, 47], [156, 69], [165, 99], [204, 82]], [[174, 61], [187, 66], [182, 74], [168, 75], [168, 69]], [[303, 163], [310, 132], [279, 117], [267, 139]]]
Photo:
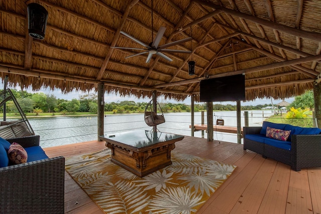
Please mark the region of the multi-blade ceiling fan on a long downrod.
[[111, 48], [141, 50], [143, 52], [136, 53], [134, 55], [130, 55], [128, 57], [125, 57], [125, 59], [130, 58], [130, 57], [135, 57], [135, 56], [138, 56], [138, 55], [141, 55], [141, 54], [148, 53], [148, 56], [147, 56], [147, 59], [146, 59], [146, 63], [149, 63], [149, 61], [150, 61], [150, 59], [151, 59], [153, 54], [161, 56], [164, 59], [167, 59], [168, 61], [172, 62], [173, 60], [171, 58], [169, 58], [168, 56], [166, 56], [165, 54], [163, 54], [162, 52], [164, 52], [164, 53], [191, 53], [191, 51], [172, 50], [172, 49], [165, 49], [165, 48], [191, 41], [193, 39], [192, 37], [158, 46], [159, 42], [161, 42], [161, 39], [163, 38], [163, 35], [164, 35], [165, 31], [166, 31], [166, 28], [165, 27], [160, 27], [158, 29], [157, 34], [156, 34], [155, 40], [153, 40], [152, 8], [153, 7], [152, 7], [152, 1], [151, 1], [151, 40], [152, 40], [152, 42], [149, 45], [137, 40], [136, 38], [126, 34], [123, 31], [120, 31], [120, 33], [122, 35], [124, 35], [124, 36], [128, 37], [129, 39], [131, 39], [132, 41], [142, 45], [144, 48], [129, 48], [129, 47], [111, 47]]

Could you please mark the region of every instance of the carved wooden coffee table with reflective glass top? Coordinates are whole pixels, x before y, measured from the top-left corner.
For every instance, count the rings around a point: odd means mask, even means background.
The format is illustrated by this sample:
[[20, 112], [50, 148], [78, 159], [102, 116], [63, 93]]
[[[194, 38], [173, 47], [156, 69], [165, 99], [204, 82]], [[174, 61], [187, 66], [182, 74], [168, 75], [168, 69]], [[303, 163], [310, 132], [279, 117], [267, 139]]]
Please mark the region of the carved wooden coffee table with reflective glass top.
[[106, 134], [99, 139], [111, 149], [111, 161], [139, 177], [171, 165], [171, 151], [182, 135], [134, 130]]

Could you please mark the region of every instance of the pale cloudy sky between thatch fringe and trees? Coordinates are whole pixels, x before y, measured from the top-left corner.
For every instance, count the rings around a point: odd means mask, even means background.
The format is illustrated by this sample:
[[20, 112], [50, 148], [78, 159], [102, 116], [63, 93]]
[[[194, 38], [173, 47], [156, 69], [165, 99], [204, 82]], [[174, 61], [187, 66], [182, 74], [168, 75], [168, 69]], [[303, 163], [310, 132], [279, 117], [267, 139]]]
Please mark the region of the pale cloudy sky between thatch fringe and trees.
[[[0, 82], [0, 89], [3, 89], [4, 85], [3, 83]], [[9, 87], [10, 88], [10, 87]], [[20, 87], [16, 88], [18, 91], [21, 90]], [[67, 94], [63, 94], [61, 92], [60, 89], [56, 89], [54, 91], [50, 90], [49, 88], [41, 88], [39, 91], [32, 91], [31, 89], [27, 89], [27, 91], [29, 93], [37, 93], [37, 92], [43, 92], [44, 94], [48, 94], [48, 95], [54, 95], [56, 98], [59, 99], [65, 99], [65, 100], [72, 100], [72, 99], [79, 99], [79, 96], [84, 95], [84, 94], [92, 94], [95, 93], [94, 91], [89, 91], [89, 92], [76, 92], [75, 90], [72, 92], [69, 92]], [[136, 98], [134, 96], [129, 97], [129, 96], [125, 96], [125, 97], [121, 97], [117, 94], [105, 94], [105, 103], [111, 103], [111, 102], [118, 102], [118, 101], [134, 101], [134, 102], [149, 102], [150, 99], [139, 99]], [[165, 100], [164, 98], [158, 98], [157, 99], [158, 102], [169, 102], [169, 103], [178, 103], [176, 100]], [[278, 103], [280, 103], [282, 100], [274, 100], [272, 99], [273, 105], [276, 105]], [[294, 101], [294, 97], [293, 98], [288, 98], [285, 99], [286, 102], [291, 103]], [[256, 106], [256, 105], [264, 105], [264, 104], [269, 104], [272, 105], [271, 99], [256, 99], [254, 101], [246, 101], [246, 102], [241, 102], [242, 106], [245, 105], [252, 105], [252, 106]], [[185, 103], [187, 105], [191, 104], [191, 98], [188, 97], [186, 100], [184, 100], [183, 102], [180, 103]], [[213, 102], [213, 104], [232, 104], [232, 105], [236, 105], [236, 102]]]

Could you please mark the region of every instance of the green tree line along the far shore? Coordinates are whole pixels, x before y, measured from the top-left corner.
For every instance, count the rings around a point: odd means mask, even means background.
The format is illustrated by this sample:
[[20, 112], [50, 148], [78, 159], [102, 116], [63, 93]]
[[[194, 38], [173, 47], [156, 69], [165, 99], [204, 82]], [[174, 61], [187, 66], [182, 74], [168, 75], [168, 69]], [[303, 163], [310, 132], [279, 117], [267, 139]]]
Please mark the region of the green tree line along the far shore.
[[[39, 93], [28, 93], [26, 91], [12, 90], [21, 108], [27, 112], [35, 112], [37, 114], [41, 112], [92, 112], [97, 113], [97, 95], [85, 94], [80, 95], [79, 99], [65, 100], [59, 99], [53, 94], [46, 95], [42, 92]], [[295, 97], [294, 102], [288, 106], [295, 108], [313, 108], [313, 92], [308, 91], [302, 96]], [[105, 103], [104, 110], [106, 112], [113, 113], [143, 113], [147, 102], [134, 102], [134, 101], [118, 101]], [[191, 106], [184, 103], [160, 103], [163, 112], [190, 112]], [[247, 105], [241, 106], [241, 110], [260, 110], [263, 107], [269, 106], [270, 104], [264, 105]], [[206, 103], [195, 103], [195, 112], [205, 111]], [[213, 104], [213, 110], [218, 111], [236, 111], [236, 105], [231, 104]], [[7, 102], [7, 111], [17, 111], [13, 102]]]

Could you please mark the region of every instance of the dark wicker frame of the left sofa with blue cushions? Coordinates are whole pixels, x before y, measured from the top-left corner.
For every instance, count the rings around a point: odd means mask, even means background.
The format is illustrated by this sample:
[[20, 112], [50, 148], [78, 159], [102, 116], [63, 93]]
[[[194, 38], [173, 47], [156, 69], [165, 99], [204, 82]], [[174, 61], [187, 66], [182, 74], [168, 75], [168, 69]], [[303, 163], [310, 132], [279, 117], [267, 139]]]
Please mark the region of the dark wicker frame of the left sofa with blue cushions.
[[[39, 135], [7, 139], [39, 146]], [[0, 168], [0, 213], [64, 213], [63, 156]]]

